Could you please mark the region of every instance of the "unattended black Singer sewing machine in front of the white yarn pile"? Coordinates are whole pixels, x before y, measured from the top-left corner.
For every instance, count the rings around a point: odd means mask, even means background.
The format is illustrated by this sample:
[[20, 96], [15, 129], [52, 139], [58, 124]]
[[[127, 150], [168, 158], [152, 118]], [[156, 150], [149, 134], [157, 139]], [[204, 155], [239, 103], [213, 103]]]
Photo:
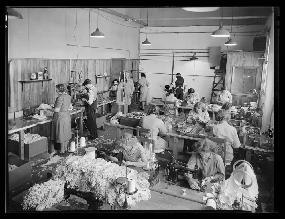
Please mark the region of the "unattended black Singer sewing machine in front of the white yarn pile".
[[[79, 189], [72, 188], [69, 181], [64, 183], [64, 199], [66, 203], [70, 195], [76, 195], [87, 201], [88, 209], [87, 210], [100, 210], [100, 207], [105, 204], [105, 197], [98, 195], [93, 192], [82, 191]], [[67, 205], [69, 206], [69, 205]]]

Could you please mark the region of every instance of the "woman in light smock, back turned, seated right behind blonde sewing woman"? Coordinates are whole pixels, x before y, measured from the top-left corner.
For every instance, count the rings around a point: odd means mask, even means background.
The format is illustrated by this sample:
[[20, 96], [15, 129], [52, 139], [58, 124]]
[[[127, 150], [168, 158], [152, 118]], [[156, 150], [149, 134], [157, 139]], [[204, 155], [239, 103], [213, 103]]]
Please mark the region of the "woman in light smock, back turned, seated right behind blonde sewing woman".
[[[159, 115], [159, 107], [152, 105], [148, 109], [148, 116], [144, 116], [141, 118], [141, 121], [139, 123], [139, 127], [150, 129], [153, 128], [153, 140], [155, 141], [154, 145], [154, 153], [162, 153], [164, 154], [165, 151], [165, 144], [166, 141], [158, 136], [158, 132], [165, 134], [167, 132], [164, 122], [160, 120], [159, 118], [156, 118], [157, 115]], [[141, 137], [148, 138], [150, 137], [148, 133], [141, 132]], [[144, 144], [144, 147], [146, 146], [146, 143]]]

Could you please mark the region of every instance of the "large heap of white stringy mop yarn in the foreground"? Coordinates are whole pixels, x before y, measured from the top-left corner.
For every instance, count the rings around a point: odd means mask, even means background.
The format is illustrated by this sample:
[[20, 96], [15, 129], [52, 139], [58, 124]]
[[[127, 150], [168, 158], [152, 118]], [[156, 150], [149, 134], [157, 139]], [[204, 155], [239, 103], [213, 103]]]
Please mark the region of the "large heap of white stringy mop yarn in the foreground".
[[[120, 167], [104, 159], [92, 159], [89, 155], [68, 156], [57, 166], [53, 173], [53, 179], [46, 182], [51, 183], [56, 180], [58, 184], [53, 186], [56, 187], [56, 189], [52, 189], [50, 194], [46, 195], [47, 191], [51, 189], [38, 189], [40, 185], [31, 187], [24, 196], [22, 203], [23, 209], [27, 209], [27, 206], [30, 206], [36, 207], [36, 210], [42, 210], [45, 207], [51, 208], [52, 204], [62, 202], [64, 199], [63, 189], [65, 181], [69, 181], [72, 187], [76, 186], [80, 190], [96, 192], [103, 196], [105, 196], [106, 193], [107, 202], [109, 204], [113, 204], [113, 202], [117, 201], [119, 205], [123, 206], [125, 198], [119, 196], [119, 188], [121, 185], [116, 183], [116, 179], [121, 177], [122, 174], [123, 177], [126, 177], [126, 167]], [[136, 194], [130, 195], [127, 198], [129, 205], [134, 206], [136, 202], [148, 200], [151, 197], [148, 182], [149, 175], [147, 173], [138, 173], [133, 169], [127, 168], [127, 178], [136, 179], [135, 186], [138, 189]], [[60, 195], [55, 196], [54, 191]], [[123, 194], [122, 188], [121, 195]], [[54, 196], [55, 198], [53, 198]], [[58, 198], [56, 199], [56, 197]]]

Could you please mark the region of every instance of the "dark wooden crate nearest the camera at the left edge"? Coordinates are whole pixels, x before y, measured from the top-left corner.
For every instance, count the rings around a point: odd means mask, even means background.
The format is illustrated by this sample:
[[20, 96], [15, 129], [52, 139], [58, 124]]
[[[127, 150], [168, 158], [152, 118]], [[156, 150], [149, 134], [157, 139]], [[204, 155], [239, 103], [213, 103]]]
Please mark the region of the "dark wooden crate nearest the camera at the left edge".
[[29, 161], [15, 157], [8, 157], [8, 163], [18, 167], [8, 173], [8, 191], [11, 191], [31, 179], [32, 169]]

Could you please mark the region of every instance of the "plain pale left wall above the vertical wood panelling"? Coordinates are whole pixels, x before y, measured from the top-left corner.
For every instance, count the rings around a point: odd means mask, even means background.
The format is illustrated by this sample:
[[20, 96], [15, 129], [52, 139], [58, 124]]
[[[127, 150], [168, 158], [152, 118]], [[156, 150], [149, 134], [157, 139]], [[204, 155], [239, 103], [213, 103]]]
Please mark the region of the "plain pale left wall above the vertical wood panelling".
[[[99, 29], [105, 38], [91, 38], [97, 28], [97, 13], [82, 8], [17, 8], [23, 19], [9, 20], [9, 58], [76, 59], [77, 47], [105, 47], [130, 50], [130, 58], [138, 58], [139, 28], [124, 19], [99, 11]], [[76, 25], [77, 11], [77, 25]], [[76, 25], [76, 29], [74, 31]], [[74, 39], [74, 33], [76, 42]], [[78, 47], [78, 59], [129, 58], [129, 52]]]

